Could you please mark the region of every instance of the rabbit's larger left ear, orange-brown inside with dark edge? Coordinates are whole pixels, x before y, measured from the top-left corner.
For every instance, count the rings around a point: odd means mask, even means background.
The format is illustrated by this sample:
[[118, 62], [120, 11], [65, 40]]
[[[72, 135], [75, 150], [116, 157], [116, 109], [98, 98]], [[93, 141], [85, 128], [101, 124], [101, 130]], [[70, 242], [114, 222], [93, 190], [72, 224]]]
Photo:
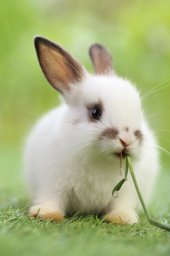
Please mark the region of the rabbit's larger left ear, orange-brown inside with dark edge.
[[35, 37], [35, 49], [46, 79], [59, 92], [71, 90], [71, 83], [83, 79], [84, 67], [60, 45]]

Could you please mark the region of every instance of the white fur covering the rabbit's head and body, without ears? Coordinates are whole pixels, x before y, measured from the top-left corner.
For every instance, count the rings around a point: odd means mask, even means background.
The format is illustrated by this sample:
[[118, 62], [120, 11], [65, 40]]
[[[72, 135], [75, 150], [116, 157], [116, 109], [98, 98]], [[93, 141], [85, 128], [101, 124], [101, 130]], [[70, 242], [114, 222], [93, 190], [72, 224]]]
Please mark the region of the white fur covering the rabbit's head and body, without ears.
[[[26, 144], [24, 162], [34, 207], [38, 205], [38, 211], [39, 205], [51, 206], [52, 211], [71, 215], [79, 210], [84, 215], [116, 213], [128, 223], [137, 222], [140, 203], [130, 173], [119, 196], [112, 197], [122, 179], [119, 158], [113, 152], [121, 152], [122, 145], [119, 139], [100, 136], [106, 128], [117, 128], [121, 139], [133, 141], [129, 146], [132, 166], [148, 201], [158, 170], [157, 150], [151, 145], [155, 138], [144, 119], [139, 93], [117, 76], [86, 74], [72, 88], [71, 95], [64, 96], [67, 104], [40, 119]], [[103, 117], [91, 122], [86, 106], [99, 100]], [[147, 134], [142, 144], [134, 136], [139, 129]]]

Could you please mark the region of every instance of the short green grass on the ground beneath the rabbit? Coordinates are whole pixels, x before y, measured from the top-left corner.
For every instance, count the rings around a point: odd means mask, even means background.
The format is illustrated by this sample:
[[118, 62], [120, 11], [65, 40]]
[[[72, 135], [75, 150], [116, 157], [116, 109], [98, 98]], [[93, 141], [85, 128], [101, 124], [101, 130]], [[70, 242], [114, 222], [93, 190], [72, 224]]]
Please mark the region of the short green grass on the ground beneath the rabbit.
[[[169, 255], [170, 234], [148, 223], [121, 227], [95, 216], [61, 223], [27, 216], [24, 204], [1, 213], [2, 255]], [[19, 208], [19, 209], [18, 209]], [[18, 209], [18, 210], [17, 210]], [[143, 219], [144, 221], [144, 219]]]

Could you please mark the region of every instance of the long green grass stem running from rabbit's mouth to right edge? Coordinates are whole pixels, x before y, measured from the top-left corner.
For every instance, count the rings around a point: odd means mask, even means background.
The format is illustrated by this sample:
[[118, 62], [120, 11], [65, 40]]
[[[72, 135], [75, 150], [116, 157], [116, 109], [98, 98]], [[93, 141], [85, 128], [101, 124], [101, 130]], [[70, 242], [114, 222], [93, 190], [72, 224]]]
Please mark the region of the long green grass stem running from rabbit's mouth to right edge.
[[[126, 161], [127, 161], [127, 163], [128, 163], [128, 166], [129, 166], [129, 168], [130, 168], [130, 173], [131, 173], [131, 176], [132, 176], [133, 183], [134, 183], [134, 185], [135, 185], [137, 194], [138, 194], [138, 196], [139, 196], [139, 199], [140, 199], [140, 201], [141, 201], [142, 207], [143, 207], [143, 209], [144, 209], [144, 212], [145, 212], [145, 214], [146, 214], [146, 217], [147, 217], [148, 221], [149, 221], [152, 225], [155, 225], [155, 226], [157, 226], [157, 227], [160, 227], [160, 228], [162, 228], [162, 229], [166, 229], [166, 230], [170, 231], [170, 227], [168, 227], [168, 226], [166, 226], [166, 225], [163, 225], [163, 224], [161, 224], [160, 222], [157, 222], [157, 221], [155, 221], [155, 220], [153, 220], [153, 219], [151, 219], [151, 218], [149, 217], [148, 211], [147, 211], [146, 206], [145, 206], [145, 203], [144, 203], [144, 200], [143, 200], [142, 195], [141, 195], [141, 192], [140, 192], [140, 190], [139, 190], [139, 186], [138, 186], [138, 184], [137, 184], [137, 180], [136, 180], [136, 177], [135, 177], [135, 173], [134, 173], [134, 171], [133, 171], [133, 168], [132, 168], [132, 164], [131, 164], [131, 162], [130, 162], [130, 157], [129, 157], [128, 154], [125, 154], [125, 156], [126, 156]], [[126, 173], [126, 171], [125, 171], [125, 173]]]

